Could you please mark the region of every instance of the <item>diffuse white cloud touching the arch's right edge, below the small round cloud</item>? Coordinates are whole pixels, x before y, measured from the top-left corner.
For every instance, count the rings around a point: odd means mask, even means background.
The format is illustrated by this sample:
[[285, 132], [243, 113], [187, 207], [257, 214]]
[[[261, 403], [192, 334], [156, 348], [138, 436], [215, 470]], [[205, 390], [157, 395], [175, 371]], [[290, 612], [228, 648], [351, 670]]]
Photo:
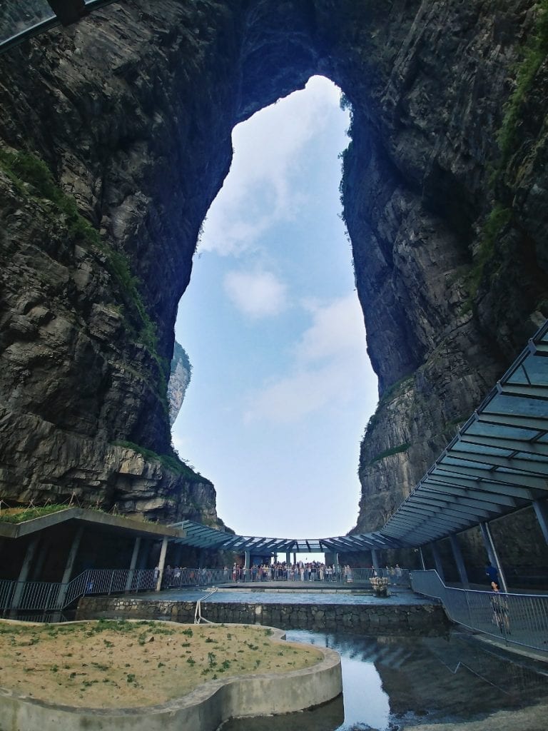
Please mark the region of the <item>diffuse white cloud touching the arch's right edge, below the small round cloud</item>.
[[344, 406], [364, 388], [376, 404], [376, 376], [365, 349], [365, 327], [357, 296], [311, 305], [313, 322], [294, 349], [292, 371], [248, 395], [246, 423], [295, 422], [325, 406]]

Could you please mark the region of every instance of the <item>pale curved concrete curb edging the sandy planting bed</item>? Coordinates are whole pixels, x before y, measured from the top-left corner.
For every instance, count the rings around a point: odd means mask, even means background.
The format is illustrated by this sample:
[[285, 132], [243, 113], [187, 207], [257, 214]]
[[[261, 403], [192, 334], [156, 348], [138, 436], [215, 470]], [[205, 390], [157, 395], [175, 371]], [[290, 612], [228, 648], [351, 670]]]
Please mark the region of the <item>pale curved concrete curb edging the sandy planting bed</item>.
[[[166, 623], [176, 624], [176, 623]], [[285, 639], [271, 628], [273, 640]], [[0, 688], [0, 729], [9, 731], [215, 731], [235, 716], [291, 713], [321, 705], [343, 690], [340, 656], [316, 647], [324, 658], [291, 673], [240, 675], [208, 681], [162, 705], [140, 708], [71, 708]]]

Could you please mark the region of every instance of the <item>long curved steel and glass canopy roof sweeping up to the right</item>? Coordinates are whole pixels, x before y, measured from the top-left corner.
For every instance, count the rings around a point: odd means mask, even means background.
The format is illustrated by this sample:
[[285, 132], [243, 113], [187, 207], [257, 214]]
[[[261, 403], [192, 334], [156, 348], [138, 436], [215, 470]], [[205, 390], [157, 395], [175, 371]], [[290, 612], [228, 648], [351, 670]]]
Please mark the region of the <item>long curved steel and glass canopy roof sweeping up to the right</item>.
[[420, 546], [548, 497], [548, 320], [392, 518], [375, 533], [259, 538], [191, 520], [175, 523], [197, 548], [351, 553]]

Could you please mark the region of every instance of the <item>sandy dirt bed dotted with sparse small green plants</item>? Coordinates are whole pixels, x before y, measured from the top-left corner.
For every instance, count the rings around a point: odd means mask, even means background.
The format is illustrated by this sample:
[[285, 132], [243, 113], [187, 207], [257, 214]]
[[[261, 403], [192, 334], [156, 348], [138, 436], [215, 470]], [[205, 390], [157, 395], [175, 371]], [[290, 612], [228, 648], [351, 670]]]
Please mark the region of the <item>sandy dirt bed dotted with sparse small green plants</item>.
[[300, 670], [323, 657], [271, 633], [229, 624], [0, 621], [0, 686], [61, 705], [130, 708], [167, 702], [210, 680]]

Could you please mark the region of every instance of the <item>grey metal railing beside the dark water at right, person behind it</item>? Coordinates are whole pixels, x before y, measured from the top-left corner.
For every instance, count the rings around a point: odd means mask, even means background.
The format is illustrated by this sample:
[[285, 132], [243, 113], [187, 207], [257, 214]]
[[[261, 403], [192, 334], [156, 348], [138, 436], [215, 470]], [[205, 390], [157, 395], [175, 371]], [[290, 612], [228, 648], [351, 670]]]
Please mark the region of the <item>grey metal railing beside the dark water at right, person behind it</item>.
[[548, 596], [445, 586], [434, 570], [414, 571], [411, 588], [439, 599], [452, 621], [508, 643], [548, 651]]

